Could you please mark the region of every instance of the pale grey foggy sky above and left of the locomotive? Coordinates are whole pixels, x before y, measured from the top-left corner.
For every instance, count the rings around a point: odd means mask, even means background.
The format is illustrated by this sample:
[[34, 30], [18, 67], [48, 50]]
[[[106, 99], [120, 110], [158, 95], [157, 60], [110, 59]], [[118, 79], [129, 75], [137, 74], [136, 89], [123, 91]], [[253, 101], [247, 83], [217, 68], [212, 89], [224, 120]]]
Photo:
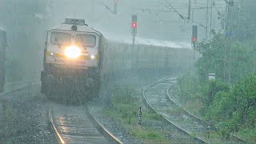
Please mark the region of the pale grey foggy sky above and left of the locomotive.
[[[190, 48], [191, 27], [198, 24], [202, 25], [198, 26], [198, 40], [206, 38], [206, 1], [191, 1], [190, 20], [187, 19], [188, 0], [119, 0], [117, 14], [113, 14], [112, 0], [1, 0], [0, 2], [2, 19], [0, 27], [8, 34], [7, 82], [39, 78], [46, 30], [58, 26], [65, 18], [83, 18], [89, 26], [114, 42], [131, 43], [131, 14], [138, 14], [138, 34], [135, 40], [137, 44]], [[167, 2], [178, 13], [174, 12]], [[211, 26], [218, 31], [220, 24], [217, 12], [223, 12], [225, 5], [222, 1], [214, 2]], [[208, 31], [210, 11], [209, 8]], [[182, 19], [179, 14], [186, 19]], [[209, 38], [209, 34], [207, 37]]]

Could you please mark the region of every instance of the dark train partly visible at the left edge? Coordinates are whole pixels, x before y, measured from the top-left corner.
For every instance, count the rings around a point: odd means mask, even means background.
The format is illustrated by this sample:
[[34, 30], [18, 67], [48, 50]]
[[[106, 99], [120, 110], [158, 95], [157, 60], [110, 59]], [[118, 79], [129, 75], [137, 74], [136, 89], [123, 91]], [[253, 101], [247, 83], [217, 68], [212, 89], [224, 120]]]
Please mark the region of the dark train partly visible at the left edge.
[[4, 90], [6, 81], [6, 30], [0, 29], [0, 92]]

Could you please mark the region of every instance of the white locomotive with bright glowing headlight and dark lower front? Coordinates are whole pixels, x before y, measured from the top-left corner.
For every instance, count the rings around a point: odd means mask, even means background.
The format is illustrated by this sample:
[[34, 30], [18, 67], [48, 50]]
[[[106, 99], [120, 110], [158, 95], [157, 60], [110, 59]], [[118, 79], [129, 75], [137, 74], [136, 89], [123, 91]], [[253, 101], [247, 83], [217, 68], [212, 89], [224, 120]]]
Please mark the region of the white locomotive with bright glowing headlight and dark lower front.
[[47, 30], [41, 92], [50, 99], [86, 102], [98, 98], [106, 38], [84, 19], [66, 18]]

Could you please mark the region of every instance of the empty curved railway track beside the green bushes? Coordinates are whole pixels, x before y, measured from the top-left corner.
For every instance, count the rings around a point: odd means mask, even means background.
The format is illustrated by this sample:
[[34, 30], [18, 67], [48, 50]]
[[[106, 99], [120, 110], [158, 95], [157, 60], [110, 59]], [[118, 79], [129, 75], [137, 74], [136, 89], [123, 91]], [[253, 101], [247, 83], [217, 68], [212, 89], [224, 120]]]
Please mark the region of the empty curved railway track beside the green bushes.
[[147, 87], [143, 91], [143, 99], [151, 110], [160, 114], [162, 118], [170, 122], [182, 133], [189, 135], [200, 143], [238, 143], [244, 142], [237, 137], [227, 141], [222, 138], [212, 136], [216, 132], [213, 126], [195, 117], [186, 110], [178, 106], [170, 97], [168, 90], [176, 82], [175, 78], [164, 78]]

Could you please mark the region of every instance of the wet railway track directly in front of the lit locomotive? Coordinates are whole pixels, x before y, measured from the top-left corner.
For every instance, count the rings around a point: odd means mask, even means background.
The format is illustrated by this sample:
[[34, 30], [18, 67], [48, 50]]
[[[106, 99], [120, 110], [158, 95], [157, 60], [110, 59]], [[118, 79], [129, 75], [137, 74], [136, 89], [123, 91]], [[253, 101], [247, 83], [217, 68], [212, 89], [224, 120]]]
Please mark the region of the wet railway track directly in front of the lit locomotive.
[[60, 143], [122, 143], [86, 107], [53, 104], [49, 118]]

